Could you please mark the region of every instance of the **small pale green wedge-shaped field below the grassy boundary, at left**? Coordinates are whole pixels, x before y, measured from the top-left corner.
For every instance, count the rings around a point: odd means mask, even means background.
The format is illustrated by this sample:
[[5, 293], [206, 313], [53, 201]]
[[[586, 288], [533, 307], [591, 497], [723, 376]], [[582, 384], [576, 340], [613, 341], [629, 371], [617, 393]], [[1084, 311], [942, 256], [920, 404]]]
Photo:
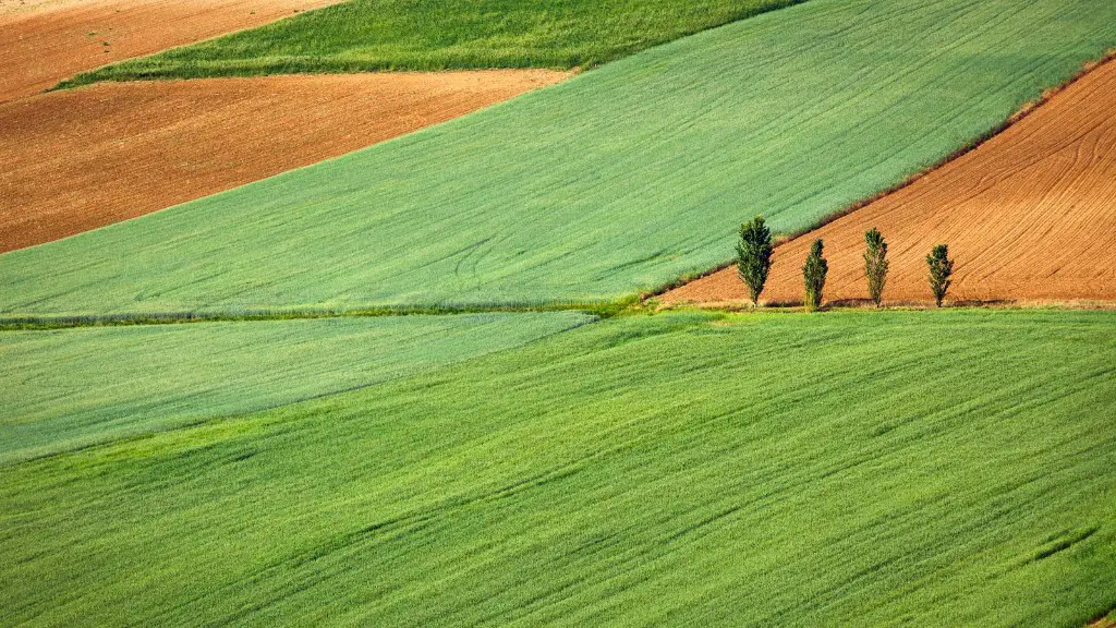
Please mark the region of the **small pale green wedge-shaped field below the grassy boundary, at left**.
[[577, 313], [0, 333], [0, 464], [379, 383], [518, 346]]

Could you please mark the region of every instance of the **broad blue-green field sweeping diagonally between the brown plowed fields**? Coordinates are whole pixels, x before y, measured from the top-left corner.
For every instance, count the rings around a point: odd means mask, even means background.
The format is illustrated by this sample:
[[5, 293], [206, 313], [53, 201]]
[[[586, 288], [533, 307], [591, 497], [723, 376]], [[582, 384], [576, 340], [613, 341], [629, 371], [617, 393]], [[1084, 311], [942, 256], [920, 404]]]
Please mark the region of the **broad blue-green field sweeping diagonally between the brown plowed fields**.
[[[811, 0], [0, 256], [0, 316], [613, 301], [903, 180], [1116, 46], [1107, 0]], [[959, 260], [960, 263], [960, 260]]]

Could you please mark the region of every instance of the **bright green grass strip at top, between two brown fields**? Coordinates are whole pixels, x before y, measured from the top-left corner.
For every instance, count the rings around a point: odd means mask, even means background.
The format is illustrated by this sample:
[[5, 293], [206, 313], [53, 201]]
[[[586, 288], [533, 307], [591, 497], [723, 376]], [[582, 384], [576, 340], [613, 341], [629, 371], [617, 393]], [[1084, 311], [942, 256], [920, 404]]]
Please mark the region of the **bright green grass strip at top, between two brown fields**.
[[353, 0], [81, 74], [97, 80], [573, 68], [802, 0]]

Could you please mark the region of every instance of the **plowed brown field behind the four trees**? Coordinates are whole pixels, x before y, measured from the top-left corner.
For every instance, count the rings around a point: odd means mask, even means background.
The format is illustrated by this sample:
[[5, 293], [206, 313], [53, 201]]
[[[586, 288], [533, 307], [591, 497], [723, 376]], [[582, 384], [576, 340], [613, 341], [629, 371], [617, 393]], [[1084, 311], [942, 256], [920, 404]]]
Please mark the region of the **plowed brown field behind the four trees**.
[[[827, 301], [867, 298], [872, 227], [889, 242], [888, 301], [932, 299], [925, 256], [936, 244], [955, 260], [953, 301], [1116, 299], [1116, 61], [910, 187], [779, 246], [762, 299], [801, 303], [816, 238], [829, 259]], [[662, 301], [747, 298], [733, 267]]]

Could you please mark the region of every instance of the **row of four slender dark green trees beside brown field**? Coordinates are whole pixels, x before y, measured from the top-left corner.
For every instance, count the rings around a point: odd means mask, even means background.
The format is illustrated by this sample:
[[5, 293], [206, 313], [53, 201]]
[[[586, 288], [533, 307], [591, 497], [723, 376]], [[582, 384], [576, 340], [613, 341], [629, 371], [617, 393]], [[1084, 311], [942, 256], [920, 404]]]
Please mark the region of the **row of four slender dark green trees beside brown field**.
[[[884, 299], [884, 286], [887, 285], [889, 266], [887, 240], [873, 227], [864, 234], [864, 241], [867, 245], [864, 251], [864, 276], [868, 280], [868, 296], [878, 307]], [[815, 240], [802, 266], [802, 278], [806, 284], [805, 304], [810, 311], [821, 305], [821, 292], [825, 289], [826, 275], [829, 273], [829, 264], [824, 251], [825, 242], [821, 239]], [[767, 284], [768, 274], [771, 272], [772, 254], [775, 254], [775, 242], [762, 216], [741, 225], [740, 242], [737, 245], [737, 274], [748, 286], [752, 305], [759, 304], [763, 285]], [[950, 259], [949, 246], [935, 246], [926, 256], [926, 266], [930, 289], [934, 294], [935, 303], [941, 307], [953, 276], [953, 260]]]

